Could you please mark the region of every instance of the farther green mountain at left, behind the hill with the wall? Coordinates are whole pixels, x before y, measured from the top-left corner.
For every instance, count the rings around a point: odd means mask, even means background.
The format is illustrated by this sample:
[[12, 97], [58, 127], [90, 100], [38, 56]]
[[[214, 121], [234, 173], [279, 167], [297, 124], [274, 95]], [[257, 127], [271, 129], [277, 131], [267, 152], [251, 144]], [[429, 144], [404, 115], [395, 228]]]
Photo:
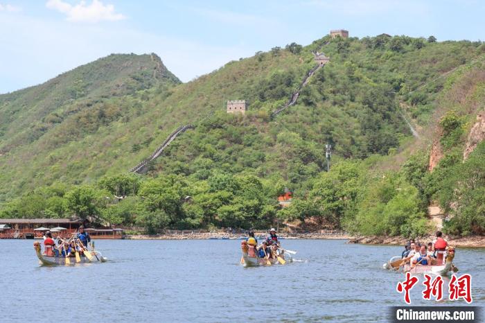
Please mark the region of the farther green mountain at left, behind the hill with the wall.
[[103, 130], [113, 121], [140, 113], [127, 98], [144, 89], [166, 93], [179, 83], [155, 54], [109, 55], [0, 95], [0, 200], [54, 180], [91, 177], [87, 164], [67, 168], [83, 163], [94, 145], [109, 145]]

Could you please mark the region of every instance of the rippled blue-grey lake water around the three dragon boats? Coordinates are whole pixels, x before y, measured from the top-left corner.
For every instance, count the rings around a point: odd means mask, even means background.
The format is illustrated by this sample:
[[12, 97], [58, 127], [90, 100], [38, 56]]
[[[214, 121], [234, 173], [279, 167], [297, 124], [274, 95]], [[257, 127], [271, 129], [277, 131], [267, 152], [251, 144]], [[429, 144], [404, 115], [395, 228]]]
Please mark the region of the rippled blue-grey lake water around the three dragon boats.
[[[298, 262], [243, 268], [236, 240], [96, 245], [109, 262], [49, 268], [33, 241], [0, 241], [0, 321], [385, 322], [388, 306], [404, 304], [403, 274], [381, 269], [401, 247], [284, 240]], [[485, 249], [458, 249], [455, 263], [473, 275], [473, 305], [483, 306]], [[421, 290], [412, 304], [433, 304]]]

